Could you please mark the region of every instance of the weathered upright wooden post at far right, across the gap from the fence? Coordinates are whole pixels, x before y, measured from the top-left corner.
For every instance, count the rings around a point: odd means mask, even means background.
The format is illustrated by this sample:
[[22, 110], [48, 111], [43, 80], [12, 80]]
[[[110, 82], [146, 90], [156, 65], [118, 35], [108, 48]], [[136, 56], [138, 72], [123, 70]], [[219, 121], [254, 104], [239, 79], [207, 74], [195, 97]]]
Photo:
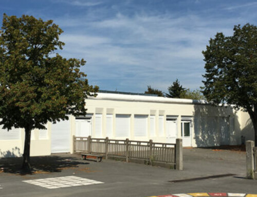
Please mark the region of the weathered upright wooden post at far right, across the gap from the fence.
[[246, 141], [246, 177], [254, 179], [254, 141]]

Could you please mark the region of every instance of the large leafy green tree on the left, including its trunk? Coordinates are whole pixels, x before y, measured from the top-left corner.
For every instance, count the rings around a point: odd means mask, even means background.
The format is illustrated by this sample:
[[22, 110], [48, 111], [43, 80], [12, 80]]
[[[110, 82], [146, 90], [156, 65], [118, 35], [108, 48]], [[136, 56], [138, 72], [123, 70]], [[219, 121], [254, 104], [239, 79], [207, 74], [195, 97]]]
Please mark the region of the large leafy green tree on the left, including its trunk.
[[85, 115], [85, 99], [96, 96], [80, 71], [85, 61], [65, 59], [58, 53], [62, 29], [50, 21], [23, 15], [3, 16], [0, 33], [0, 124], [24, 128], [24, 170], [30, 166], [32, 129], [46, 129], [69, 114]]

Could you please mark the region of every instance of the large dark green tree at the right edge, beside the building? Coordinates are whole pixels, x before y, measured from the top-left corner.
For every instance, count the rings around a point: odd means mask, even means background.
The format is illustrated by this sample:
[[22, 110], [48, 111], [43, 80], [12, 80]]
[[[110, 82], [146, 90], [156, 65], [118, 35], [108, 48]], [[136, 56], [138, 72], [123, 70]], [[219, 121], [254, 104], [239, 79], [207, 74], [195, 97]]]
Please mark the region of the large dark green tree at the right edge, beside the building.
[[248, 112], [257, 146], [257, 27], [234, 26], [233, 35], [217, 33], [203, 51], [204, 96], [213, 104], [229, 104]]

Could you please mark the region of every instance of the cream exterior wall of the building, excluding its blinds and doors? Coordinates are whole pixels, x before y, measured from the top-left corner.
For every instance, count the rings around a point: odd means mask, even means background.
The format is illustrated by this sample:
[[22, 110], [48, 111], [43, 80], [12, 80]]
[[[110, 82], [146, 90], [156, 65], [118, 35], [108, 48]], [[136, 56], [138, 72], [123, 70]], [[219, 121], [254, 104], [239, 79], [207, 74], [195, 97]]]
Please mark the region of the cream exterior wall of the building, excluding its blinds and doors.
[[[99, 94], [97, 98], [86, 100], [87, 113], [92, 117], [92, 137], [95, 137], [95, 114], [102, 114], [102, 137], [106, 137], [106, 114], [113, 114], [113, 136], [112, 139], [149, 140], [155, 142], [167, 142], [166, 117], [177, 118], [177, 137], [181, 137], [180, 122], [183, 117], [191, 118], [191, 142], [193, 147], [208, 147], [222, 145], [222, 121], [229, 123], [228, 137], [229, 145], [241, 144], [241, 136], [246, 136], [246, 140], [253, 140], [253, 128], [249, 115], [245, 112], [235, 112], [232, 108], [214, 107], [203, 103], [195, 104], [192, 100], [160, 98], [158, 101], [151, 101], [151, 97], [123, 95], [123, 99], [101, 98], [105, 96]], [[111, 96], [112, 97], [112, 96]], [[125, 98], [130, 98], [125, 100]], [[140, 102], [138, 101], [138, 98]], [[146, 99], [146, 100], [145, 100]], [[153, 98], [153, 99], [156, 99]], [[181, 101], [181, 102], [180, 102]], [[131, 115], [130, 134], [123, 137], [115, 137], [115, 115]], [[148, 115], [148, 132], [146, 136], [134, 136], [134, 115]], [[150, 135], [150, 115], [155, 115], [155, 135]], [[159, 115], [164, 116], [164, 134], [159, 135]], [[70, 152], [72, 152], [72, 135], [76, 134], [76, 119], [70, 117]], [[31, 140], [31, 156], [51, 154], [51, 123], [48, 123], [47, 139], [39, 139], [39, 130], [35, 130], [34, 139]], [[1, 140], [0, 157], [22, 156], [24, 147], [24, 130], [20, 140]]]

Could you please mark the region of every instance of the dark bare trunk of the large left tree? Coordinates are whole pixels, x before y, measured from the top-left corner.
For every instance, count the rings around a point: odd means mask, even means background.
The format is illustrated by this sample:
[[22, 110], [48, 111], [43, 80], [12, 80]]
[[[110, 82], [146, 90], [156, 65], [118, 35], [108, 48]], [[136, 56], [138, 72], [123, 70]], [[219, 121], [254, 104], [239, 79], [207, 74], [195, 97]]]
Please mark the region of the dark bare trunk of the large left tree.
[[24, 170], [24, 171], [31, 171], [30, 135], [31, 135], [31, 129], [30, 129], [30, 127], [26, 127], [25, 128], [25, 144], [24, 144], [24, 151], [23, 151], [23, 165], [22, 165], [22, 170]]

